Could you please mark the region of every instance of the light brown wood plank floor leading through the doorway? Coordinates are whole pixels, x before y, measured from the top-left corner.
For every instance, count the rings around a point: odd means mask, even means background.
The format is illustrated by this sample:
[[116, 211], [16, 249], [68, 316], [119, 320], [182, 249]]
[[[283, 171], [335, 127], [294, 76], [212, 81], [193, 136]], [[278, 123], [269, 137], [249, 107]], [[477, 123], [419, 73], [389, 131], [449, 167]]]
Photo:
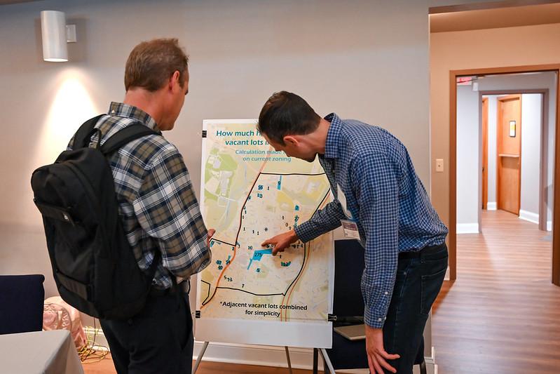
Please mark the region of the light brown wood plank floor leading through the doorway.
[[[484, 211], [482, 231], [458, 235], [457, 280], [444, 283], [434, 306], [439, 374], [559, 374], [560, 287], [550, 283], [549, 234], [503, 211]], [[84, 369], [86, 374], [115, 373], [110, 359]], [[287, 372], [212, 362], [198, 370]]]

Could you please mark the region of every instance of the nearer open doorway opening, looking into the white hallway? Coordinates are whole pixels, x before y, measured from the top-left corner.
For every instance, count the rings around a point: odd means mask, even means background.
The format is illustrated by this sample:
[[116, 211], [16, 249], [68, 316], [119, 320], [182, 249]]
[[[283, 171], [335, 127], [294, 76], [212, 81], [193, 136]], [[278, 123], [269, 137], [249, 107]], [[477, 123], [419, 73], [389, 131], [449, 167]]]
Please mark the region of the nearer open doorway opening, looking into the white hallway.
[[552, 229], [555, 85], [554, 72], [458, 78], [458, 234], [496, 209]]

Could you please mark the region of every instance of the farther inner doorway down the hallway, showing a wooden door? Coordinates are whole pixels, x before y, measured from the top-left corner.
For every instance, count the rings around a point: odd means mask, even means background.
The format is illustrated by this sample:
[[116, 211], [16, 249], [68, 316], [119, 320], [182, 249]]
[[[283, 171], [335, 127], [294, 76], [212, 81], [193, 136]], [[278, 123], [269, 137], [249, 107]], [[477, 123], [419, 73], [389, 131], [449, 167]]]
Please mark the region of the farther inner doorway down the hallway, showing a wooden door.
[[[554, 84], [553, 74], [540, 75]], [[552, 231], [554, 95], [549, 88], [514, 91], [480, 92], [482, 211], [507, 211]]]

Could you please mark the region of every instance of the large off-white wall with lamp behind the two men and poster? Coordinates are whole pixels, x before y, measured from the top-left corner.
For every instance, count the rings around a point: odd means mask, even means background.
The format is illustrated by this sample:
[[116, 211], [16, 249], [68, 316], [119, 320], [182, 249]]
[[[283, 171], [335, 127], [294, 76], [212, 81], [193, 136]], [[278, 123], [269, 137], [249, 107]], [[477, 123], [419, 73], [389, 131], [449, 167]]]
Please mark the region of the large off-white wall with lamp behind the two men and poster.
[[[39, 13], [77, 25], [70, 62], [41, 60]], [[428, 1], [45, 0], [0, 6], [0, 274], [46, 274], [56, 293], [29, 178], [81, 121], [122, 100], [139, 41], [177, 36], [191, 57], [189, 95], [166, 134], [200, 185], [203, 119], [254, 118], [274, 91], [318, 113], [388, 128], [430, 190]], [[406, 109], [403, 109], [406, 107]], [[193, 295], [191, 295], [192, 297]], [[428, 336], [429, 339], [429, 336]], [[428, 340], [429, 349], [430, 342]]]

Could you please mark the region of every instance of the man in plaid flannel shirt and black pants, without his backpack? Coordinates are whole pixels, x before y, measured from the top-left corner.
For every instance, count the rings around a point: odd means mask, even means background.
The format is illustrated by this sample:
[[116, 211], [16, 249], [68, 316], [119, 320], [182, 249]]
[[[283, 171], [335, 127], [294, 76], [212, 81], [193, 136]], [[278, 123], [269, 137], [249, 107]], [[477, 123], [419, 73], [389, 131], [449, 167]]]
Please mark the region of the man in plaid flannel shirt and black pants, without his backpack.
[[[111, 102], [92, 143], [133, 123], [169, 131], [189, 92], [188, 58], [177, 39], [136, 46], [126, 62], [123, 102]], [[101, 320], [121, 373], [191, 373], [193, 323], [189, 277], [210, 263], [207, 231], [183, 157], [162, 135], [129, 142], [109, 160], [119, 215], [140, 269], [161, 260], [142, 312], [126, 321]], [[179, 284], [177, 284], [179, 283]]]

